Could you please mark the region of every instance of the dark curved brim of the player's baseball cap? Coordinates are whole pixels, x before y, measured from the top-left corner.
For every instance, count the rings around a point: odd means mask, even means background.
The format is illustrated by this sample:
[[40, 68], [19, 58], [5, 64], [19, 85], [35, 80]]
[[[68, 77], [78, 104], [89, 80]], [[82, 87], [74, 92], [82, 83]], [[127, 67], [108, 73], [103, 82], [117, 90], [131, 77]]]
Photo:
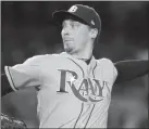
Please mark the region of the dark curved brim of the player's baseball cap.
[[80, 18], [79, 16], [77, 16], [77, 15], [71, 13], [71, 12], [67, 12], [67, 11], [63, 11], [63, 10], [61, 10], [61, 11], [55, 11], [55, 12], [53, 12], [53, 14], [52, 14], [53, 21], [57, 22], [57, 23], [60, 24], [60, 25], [62, 25], [62, 22], [63, 22], [65, 18], [67, 18], [67, 17], [73, 17], [74, 20], [79, 21], [79, 22], [82, 22], [82, 23], [84, 23], [84, 24], [88, 24], [88, 23], [86, 23], [83, 18]]

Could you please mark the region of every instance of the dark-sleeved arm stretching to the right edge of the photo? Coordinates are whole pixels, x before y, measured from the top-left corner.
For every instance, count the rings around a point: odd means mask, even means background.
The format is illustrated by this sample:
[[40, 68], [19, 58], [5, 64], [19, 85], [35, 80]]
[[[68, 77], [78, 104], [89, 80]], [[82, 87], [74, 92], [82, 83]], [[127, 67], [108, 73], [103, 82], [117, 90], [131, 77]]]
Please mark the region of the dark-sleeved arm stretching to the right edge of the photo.
[[115, 83], [133, 80], [149, 73], [149, 61], [128, 60], [114, 63], [117, 69]]

